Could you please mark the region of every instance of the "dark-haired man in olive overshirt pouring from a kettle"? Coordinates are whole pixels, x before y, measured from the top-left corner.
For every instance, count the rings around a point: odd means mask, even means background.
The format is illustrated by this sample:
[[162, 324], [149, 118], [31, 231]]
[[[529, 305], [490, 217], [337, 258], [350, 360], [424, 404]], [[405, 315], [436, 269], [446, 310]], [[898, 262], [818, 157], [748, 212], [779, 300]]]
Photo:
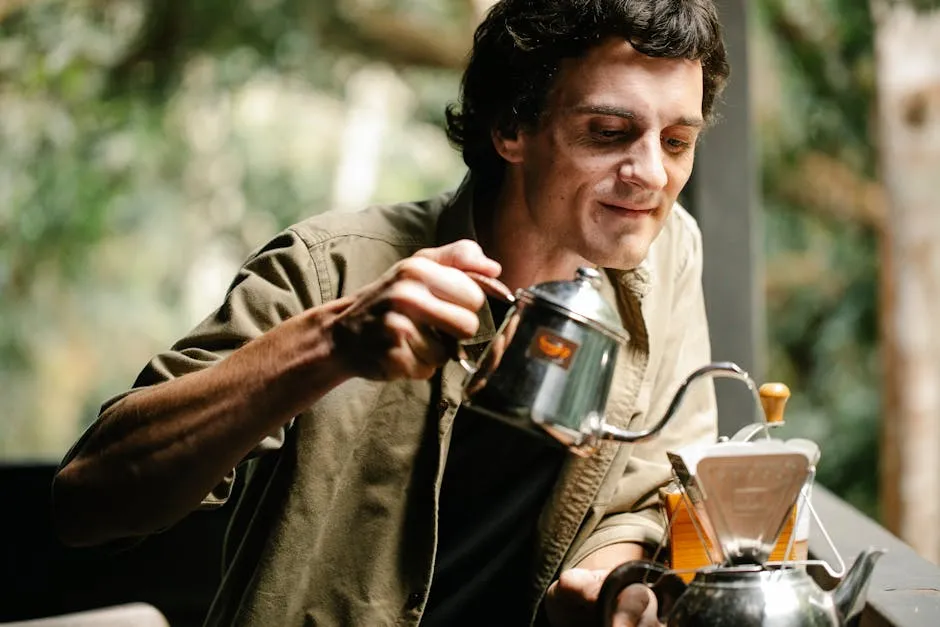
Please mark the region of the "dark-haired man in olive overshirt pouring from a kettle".
[[[67, 456], [60, 535], [153, 533], [237, 480], [209, 624], [594, 620], [604, 575], [662, 536], [664, 451], [714, 439], [711, 388], [657, 439], [582, 459], [458, 412], [444, 338], [480, 348], [505, 314], [467, 271], [517, 289], [600, 266], [630, 335], [608, 420], [658, 419], [710, 359], [701, 238], [675, 203], [727, 72], [711, 0], [497, 3], [448, 111], [461, 188], [253, 255]], [[645, 588], [620, 610], [657, 624]]]

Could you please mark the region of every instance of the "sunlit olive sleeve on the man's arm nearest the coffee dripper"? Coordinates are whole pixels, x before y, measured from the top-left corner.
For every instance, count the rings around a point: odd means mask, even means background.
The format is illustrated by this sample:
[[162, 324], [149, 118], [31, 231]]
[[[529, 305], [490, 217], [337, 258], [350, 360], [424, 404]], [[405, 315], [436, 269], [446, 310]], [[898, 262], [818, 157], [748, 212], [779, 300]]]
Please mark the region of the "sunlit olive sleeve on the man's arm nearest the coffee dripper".
[[[680, 210], [681, 211], [681, 210]], [[663, 327], [661, 359], [651, 363], [648, 373], [649, 403], [644, 417], [648, 427], [666, 412], [679, 383], [692, 371], [711, 361], [705, 299], [702, 290], [702, 236], [694, 220], [682, 212], [678, 216], [685, 237], [677, 255], [682, 262], [674, 270], [671, 299], [656, 316], [665, 316], [650, 326]], [[651, 338], [652, 339], [652, 338]], [[632, 426], [639, 426], [633, 423]], [[569, 566], [589, 554], [619, 542], [636, 542], [655, 548], [663, 538], [665, 520], [660, 507], [659, 489], [672, 473], [666, 452], [693, 443], [714, 442], [718, 435], [714, 385], [711, 379], [699, 379], [689, 386], [683, 403], [669, 425], [656, 437], [637, 443], [600, 523], [578, 547]], [[616, 464], [615, 464], [616, 465]]]

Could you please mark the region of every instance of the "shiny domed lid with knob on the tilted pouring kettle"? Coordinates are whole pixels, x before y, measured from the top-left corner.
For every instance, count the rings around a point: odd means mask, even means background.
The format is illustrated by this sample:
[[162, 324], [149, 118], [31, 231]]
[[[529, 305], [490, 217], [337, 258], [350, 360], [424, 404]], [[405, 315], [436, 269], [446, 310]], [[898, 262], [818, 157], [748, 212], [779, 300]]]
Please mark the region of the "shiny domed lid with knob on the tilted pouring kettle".
[[525, 292], [555, 308], [563, 309], [565, 313], [572, 314], [614, 339], [626, 342], [627, 332], [620, 315], [601, 294], [600, 286], [600, 270], [582, 266], [575, 272], [573, 281], [538, 283]]

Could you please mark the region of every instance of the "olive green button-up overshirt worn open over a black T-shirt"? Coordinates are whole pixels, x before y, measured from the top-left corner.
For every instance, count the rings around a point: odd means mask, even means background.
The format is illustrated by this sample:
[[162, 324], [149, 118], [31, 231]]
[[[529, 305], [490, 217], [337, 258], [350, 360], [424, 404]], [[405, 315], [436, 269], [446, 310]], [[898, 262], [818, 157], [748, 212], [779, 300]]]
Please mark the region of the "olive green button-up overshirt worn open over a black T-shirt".
[[[287, 229], [251, 256], [222, 307], [154, 358], [135, 388], [210, 367], [421, 248], [473, 238], [471, 196], [466, 185], [426, 202], [326, 213]], [[604, 293], [630, 336], [618, 358], [609, 422], [640, 428], [659, 418], [679, 381], [709, 361], [701, 271], [701, 235], [676, 206], [641, 267], [606, 273]], [[478, 348], [495, 333], [488, 309], [480, 319], [471, 341]], [[434, 567], [438, 493], [463, 374], [451, 362], [431, 381], [354, 379], [265, 438], [237, 469], [238, 482], [246, 481], [207, 624], [417, 624]], [[569, 455], [538, 524], [533, 620], [559, 569], [613, 543], [660, 541], [657, 488], [670, 476], [665, 451], [715, 437], [713, 389], [701, 382], [652, 441]], [[234, 483], [235, 471], [204, 505], [225, 503]]]

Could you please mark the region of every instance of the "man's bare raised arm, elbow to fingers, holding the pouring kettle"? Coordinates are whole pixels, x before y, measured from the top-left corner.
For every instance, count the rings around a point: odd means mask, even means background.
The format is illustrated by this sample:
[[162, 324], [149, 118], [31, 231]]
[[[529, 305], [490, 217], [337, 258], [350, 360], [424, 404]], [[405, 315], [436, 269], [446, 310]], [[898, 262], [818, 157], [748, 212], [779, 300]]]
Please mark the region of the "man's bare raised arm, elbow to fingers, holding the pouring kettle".
[[435, 331], [476, 332], [484, 296], [461, 270], [495, 276], [499, 266], [470, 242], [421, 251], [212, 367], [124, 397], [56, 476], [60, 537], [96, 544], [167, 527], [262, 438], [343, 381], [431, 376], [446, 360]]

